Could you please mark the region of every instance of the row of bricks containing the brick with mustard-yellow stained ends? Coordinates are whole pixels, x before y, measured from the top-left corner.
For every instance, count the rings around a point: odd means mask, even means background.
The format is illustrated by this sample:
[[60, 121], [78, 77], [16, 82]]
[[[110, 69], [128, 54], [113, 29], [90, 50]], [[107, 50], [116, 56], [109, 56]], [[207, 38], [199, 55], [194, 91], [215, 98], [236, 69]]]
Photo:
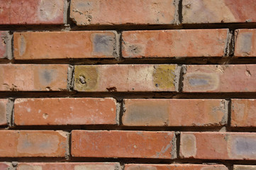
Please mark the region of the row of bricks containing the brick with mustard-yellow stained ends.
[[255, 64], [76, 65], [74, 76], [68, 64], [0, 64], [0, 91], [228, 93], [256, 92], [255, 83]]

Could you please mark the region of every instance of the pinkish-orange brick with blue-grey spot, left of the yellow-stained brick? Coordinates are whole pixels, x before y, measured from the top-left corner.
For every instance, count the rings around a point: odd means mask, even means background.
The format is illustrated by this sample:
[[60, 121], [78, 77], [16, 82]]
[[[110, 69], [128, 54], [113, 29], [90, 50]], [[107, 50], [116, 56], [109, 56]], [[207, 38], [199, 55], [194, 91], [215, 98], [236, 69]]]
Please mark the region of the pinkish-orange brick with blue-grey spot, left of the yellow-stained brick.
[[0, 64], [0, 91], [67, 90], [66, 64]]

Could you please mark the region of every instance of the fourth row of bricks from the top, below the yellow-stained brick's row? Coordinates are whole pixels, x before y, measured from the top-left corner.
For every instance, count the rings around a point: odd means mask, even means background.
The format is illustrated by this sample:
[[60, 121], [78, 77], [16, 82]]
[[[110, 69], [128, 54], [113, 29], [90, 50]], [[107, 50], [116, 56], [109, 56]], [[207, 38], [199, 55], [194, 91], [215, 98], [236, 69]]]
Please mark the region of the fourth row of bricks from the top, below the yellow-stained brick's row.
[[[9, 103], [0, 99], [0, 125], [10, 124], [11, 117], [18, 126], [221, 127], [228, 122], [228, 101], [222, 99], [124, 99], [122, 113], [113, 98], [18, 98], [14, 108]], [[232, 99], [231, 127], [256, 127], [255, 107], [255, 99]]]

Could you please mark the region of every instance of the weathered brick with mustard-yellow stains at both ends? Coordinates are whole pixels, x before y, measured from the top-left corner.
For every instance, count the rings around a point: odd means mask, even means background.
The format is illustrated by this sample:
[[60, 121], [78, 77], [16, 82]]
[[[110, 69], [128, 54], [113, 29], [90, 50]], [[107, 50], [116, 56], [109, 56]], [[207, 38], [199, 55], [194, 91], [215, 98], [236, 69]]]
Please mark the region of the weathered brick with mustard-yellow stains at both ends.
[[77, 91], [175, 91], [176, 64], [78, 65], [74, 67]]

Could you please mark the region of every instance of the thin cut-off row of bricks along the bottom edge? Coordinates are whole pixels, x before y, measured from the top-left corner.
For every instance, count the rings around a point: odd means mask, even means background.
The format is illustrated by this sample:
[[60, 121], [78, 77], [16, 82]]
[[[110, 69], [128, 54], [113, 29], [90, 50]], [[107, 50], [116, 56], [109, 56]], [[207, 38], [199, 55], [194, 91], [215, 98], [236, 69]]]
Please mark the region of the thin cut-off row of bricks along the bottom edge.
[[[1, 162], [1, 170], [12, 170], [13, 166], [8, 162]], [[121, 165], [118, 162], [63, 162], [63, 163], [25, 163], [19, 162], [16, 170], [121, 170]], [[222, 164], [208, 165], [208, 164], [125, 164], [124, 170], [228, 170]], [[234, 165], [233, 170], [255, 170], [256, 166], [250, 165]]]

